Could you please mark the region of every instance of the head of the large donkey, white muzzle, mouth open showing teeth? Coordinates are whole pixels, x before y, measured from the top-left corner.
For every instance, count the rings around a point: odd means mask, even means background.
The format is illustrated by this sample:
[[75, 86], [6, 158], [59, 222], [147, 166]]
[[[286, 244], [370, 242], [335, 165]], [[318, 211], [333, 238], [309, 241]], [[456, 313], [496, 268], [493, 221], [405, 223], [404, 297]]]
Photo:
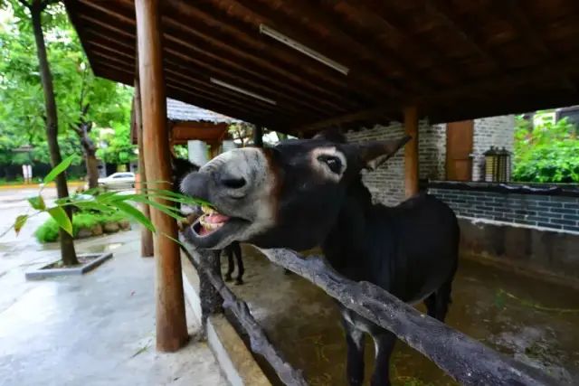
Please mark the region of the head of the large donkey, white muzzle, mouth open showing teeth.
[[223, 249], [234, 240], [313, 248], [336, 222], [360, 171], [382, 164], [408, 139], [346, 144], [333, 134], [223, 153], [181, 184], [184, 193], [214, 205], [189, 239], [204, 249]]

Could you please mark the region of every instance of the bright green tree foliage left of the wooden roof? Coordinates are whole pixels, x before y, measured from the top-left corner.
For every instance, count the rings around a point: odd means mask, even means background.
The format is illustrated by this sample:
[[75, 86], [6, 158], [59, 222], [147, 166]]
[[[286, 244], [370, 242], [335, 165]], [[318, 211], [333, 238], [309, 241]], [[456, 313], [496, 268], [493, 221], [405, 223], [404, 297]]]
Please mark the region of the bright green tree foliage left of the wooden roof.
[[[43, 90], [29, 17], [17, 1], [0, 2], [0, 163], [49, 161], [44, 134]], [[96, 144], [108, 145], [105, 161], [125, 163], [135, 157], [128, 127], [132, 89], [95, 77], [81, 42], [61, 4], [43, 13], [43, 29], [51, 64], [59, 116], [62, 155], [82, 162], [80, 140], [71, 127], [81, 120], [94, 127]], [[112, 128], [111, 143], [100, 131]], [[14, 152], [33, 146], [30, 155]], [[119, 155], [119, 156], [115, 156]]]

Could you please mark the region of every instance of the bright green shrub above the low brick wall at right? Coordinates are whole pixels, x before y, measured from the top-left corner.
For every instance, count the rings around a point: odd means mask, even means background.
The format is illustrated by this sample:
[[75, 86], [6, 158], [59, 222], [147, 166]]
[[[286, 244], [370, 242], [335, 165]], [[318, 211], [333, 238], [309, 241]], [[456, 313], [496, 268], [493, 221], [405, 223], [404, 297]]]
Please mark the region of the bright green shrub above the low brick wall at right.
[[526, 183], [579, 183], [577, 128], [566, 118], [535, 127], [518, 118], [513, 179]]

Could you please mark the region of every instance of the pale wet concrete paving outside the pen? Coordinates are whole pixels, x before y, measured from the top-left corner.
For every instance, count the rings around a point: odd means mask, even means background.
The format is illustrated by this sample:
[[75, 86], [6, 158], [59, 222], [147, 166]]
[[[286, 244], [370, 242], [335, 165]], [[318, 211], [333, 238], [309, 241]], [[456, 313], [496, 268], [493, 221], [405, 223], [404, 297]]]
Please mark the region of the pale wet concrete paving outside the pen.
[[[22, 203], [8, 196], [3, 220]], [[88, 275], [26, 282], [26, 269], [58, 256], [30, 233], [0, 240], [0, 385], [226, 384], [206, 344], [156, 352], [154, 260], [138, 257], [138, 231], [78, 242], [114, 254]]]

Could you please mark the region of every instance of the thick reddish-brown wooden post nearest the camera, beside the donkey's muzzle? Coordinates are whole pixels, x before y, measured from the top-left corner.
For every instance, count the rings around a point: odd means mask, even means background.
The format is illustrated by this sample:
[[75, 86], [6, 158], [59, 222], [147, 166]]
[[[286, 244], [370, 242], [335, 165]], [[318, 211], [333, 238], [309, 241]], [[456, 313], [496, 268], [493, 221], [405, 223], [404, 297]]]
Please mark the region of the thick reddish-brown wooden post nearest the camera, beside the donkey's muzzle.
[[[148, 187], [171, 189], [171, 159], [166, 127], [166, 95], [163, 77], [162, 26], [158, 0], [136, 0], [138, 72], [143, 119], [143, 146]], [[158, 182], [158, 183], [157, 183]], [[159, 200], [164, 204], [170, 204]], [[155, 240], [157, 292], [157, 350], [173, 352], [187, 339], [185, 299], [178, 238], [174, 219], [155, 208], [151, 218]]]

